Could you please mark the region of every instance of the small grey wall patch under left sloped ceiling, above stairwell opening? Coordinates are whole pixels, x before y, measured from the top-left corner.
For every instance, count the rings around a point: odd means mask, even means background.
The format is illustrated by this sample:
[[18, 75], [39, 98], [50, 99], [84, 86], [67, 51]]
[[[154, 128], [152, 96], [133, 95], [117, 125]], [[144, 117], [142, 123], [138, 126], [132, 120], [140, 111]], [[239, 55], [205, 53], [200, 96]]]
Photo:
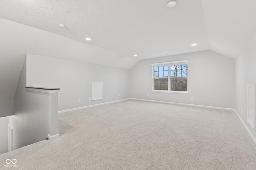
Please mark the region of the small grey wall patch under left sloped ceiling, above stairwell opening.
[[13, 115], [13, 99], [0, 100], [0, 117]]

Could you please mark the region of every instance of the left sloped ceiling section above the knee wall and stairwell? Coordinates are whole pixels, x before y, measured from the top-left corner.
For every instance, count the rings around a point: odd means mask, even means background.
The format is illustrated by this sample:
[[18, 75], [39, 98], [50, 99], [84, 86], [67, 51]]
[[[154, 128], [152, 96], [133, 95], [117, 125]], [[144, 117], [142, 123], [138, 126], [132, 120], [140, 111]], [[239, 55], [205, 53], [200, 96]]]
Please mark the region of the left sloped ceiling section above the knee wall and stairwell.
[[139, 61], [2, 18], [0, 25], [0, 100], [14, 98], [26, 53], [128, 69]]

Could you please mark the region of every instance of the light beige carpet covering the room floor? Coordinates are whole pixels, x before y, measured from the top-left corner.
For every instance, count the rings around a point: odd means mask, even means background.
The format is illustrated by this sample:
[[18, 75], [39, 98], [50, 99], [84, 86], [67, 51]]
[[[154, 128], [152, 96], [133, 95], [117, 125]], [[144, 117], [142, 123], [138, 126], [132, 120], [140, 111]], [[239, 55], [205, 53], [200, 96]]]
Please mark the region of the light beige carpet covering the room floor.
[[[232, 111], [126, 100], [59, 114], [60, 138], [0, 155], [0, 168], [255, 170], [256, 146]], [[3, 167], [15, 158], [19, 167]]]

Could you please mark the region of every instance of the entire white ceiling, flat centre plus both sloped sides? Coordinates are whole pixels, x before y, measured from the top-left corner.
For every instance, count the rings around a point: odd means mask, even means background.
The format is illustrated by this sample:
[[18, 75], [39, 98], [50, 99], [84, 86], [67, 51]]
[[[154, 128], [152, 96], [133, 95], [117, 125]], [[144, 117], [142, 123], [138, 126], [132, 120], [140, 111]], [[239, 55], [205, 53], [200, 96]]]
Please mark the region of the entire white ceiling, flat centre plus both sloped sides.
[[1, 0], [0, 100], [14, 97], [26, 53], [131, 68], [208, 49], [235, 58], [256, 31], [255, 0], [168, 1]]

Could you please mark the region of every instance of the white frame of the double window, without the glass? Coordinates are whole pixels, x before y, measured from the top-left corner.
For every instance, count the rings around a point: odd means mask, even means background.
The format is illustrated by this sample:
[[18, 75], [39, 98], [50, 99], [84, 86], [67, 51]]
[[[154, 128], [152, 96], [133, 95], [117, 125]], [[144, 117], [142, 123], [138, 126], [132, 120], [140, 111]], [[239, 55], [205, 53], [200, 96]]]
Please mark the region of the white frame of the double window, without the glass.
[[[182, 63], [188, 64], [188, 60], [171, 61], [171, 62], [165, 62], [165, 63], [153, 63], [153, 64], [151, 64], [151, 66], [152, 66], [152, 92], [157, 92], [157, 93], [174, 93], [174, 94], [189, 94], [188, 91], [171, 91], [170, 66], [171, 65], [180, 65]], [[168, 90], [154, 90], [154, 78], [155, 78], [154, 77], [154, 67], [155, 66], [168, 66]], [[188, 84], [187, 84], [187, 90], [188, 90]]]

